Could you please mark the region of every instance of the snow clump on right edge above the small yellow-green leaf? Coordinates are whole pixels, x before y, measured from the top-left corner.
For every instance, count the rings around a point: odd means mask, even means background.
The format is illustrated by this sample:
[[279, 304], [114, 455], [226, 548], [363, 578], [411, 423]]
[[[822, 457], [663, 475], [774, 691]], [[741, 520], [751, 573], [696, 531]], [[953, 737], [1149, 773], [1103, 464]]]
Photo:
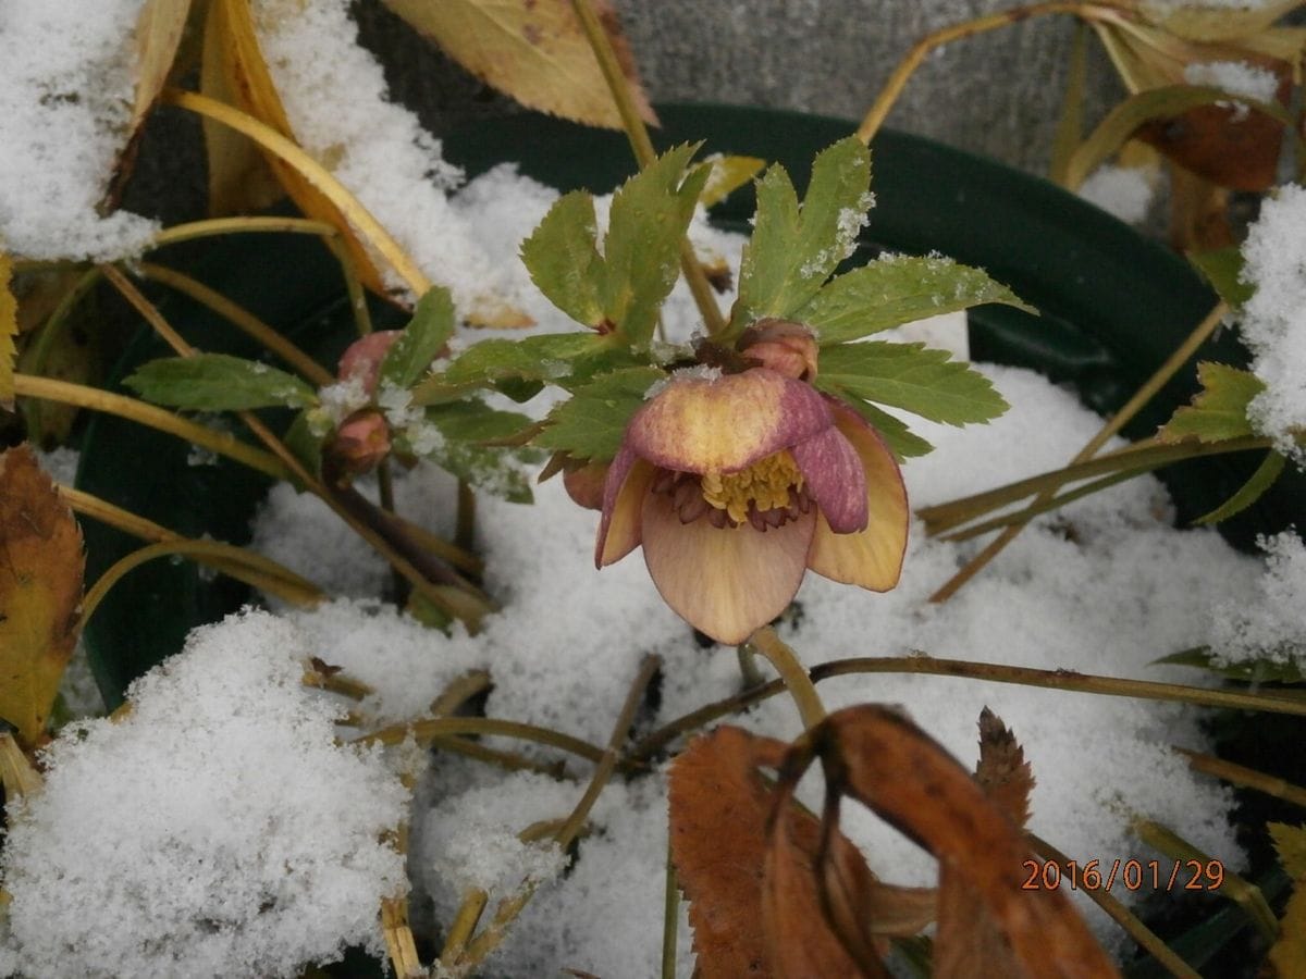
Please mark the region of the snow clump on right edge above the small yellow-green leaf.
[[1266, 390], [1251, 402], [1252, 423], [1298, 463], [1306, 450], [1294, 432], [1306, 428], [1306, 188], [1281, 187], [1267, 197], [1243, 244], [1243, 272], [1255, 292], [1242, 308], [1239, 332], [1252, 351], [1251, 369]]

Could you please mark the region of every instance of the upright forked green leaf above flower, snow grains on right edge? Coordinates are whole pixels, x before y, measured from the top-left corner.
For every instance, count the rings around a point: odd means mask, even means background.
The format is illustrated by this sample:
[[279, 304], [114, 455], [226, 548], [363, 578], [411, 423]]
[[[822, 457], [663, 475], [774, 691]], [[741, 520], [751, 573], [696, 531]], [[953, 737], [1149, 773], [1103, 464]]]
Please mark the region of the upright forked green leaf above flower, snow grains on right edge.
[[733, 332], [763, 316], [790, 317], [857, 247], [874, 198], [871, 154], [848, 137], [821, 150], [802, 208], [778, 163], [757, 181], [757, 214], [739, 268]]

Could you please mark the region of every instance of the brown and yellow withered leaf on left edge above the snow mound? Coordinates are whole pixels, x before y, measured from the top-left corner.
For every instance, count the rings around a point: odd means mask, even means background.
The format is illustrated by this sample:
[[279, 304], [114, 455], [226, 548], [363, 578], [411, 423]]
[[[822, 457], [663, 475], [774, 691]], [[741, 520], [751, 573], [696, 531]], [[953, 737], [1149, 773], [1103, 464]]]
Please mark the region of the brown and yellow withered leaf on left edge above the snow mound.
[[0, 454], [0, 718], [39, 743], [77, 641], [81, 530], [26, 445]]

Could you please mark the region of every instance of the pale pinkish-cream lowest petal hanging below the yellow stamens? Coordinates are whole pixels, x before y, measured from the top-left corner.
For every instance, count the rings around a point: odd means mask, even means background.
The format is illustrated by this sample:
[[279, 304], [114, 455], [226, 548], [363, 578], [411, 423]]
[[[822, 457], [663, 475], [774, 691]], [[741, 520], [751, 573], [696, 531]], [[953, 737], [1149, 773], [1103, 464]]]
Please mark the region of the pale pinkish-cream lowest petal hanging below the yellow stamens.
[[743, 642], [789, 604], [803, 580], [815, 510], [765, 533], [682, 523], [666, 493], [643, 508], [644, 560], [662, 599], [717, 642]]

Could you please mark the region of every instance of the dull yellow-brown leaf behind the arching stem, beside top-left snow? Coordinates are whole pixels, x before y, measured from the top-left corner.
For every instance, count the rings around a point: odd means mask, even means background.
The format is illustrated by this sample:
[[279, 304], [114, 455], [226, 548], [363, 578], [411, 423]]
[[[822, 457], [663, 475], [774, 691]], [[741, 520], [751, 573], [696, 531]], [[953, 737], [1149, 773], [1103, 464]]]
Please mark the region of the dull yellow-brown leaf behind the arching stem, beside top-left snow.
[[[227, 35], [221, 7], [218, 3], [212, 4], [205, 18], [200, 91], [218, 102], [238, 104], [222, 50]], [[285, 196], [268, 161], [252, 140], [212, 119], [202, 119], [201, 123], [209, 162], [209, 217], [264, 210]]]

